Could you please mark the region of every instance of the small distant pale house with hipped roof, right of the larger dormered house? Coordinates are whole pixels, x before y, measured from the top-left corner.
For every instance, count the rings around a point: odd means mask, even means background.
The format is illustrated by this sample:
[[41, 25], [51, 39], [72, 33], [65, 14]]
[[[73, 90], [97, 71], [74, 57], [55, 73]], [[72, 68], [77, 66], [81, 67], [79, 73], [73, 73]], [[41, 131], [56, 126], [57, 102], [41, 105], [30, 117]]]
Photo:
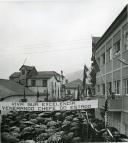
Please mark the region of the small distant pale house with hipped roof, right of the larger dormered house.
[[72, 99], [80, 99], [80, 94], [82, 92], [83, 82], [80, 79], [73, 80], [65, 85], [66, 95], [70, 96]]

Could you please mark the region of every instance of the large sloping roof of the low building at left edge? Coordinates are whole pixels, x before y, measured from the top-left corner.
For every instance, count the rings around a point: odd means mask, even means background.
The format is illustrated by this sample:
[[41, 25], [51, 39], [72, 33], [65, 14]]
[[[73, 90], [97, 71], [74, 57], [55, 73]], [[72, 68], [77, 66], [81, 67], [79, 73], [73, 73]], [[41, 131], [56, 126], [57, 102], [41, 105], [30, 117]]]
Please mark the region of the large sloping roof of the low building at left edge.
[[[23, 95], [24, 86], [6, 79], [0, 79], [0, 98], [5, 98], [11, 95]], [[34, 92], [25, 88], [26, 95], [34, 95]]]

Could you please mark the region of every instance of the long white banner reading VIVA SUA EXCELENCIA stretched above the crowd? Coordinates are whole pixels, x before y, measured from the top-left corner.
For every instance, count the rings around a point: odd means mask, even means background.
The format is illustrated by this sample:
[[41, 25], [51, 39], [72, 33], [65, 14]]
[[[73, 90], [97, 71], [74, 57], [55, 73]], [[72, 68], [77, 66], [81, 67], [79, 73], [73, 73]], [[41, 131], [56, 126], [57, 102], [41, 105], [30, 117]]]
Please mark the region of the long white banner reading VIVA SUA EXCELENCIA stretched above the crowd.
[[63, 102], [0, 102], [2, 111], [64, 111], [98, 108], [98, 100]]

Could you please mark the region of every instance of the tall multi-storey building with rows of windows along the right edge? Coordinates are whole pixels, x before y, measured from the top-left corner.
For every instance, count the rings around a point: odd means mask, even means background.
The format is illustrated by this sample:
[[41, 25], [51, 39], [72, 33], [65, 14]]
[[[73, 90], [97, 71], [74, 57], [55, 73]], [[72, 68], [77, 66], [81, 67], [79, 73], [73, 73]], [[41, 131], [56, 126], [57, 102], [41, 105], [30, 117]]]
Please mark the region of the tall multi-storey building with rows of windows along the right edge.
[[108, 123], [128, 135], [128, 5], [96, 42], [96, 118], [104, 119], [108, 99]]

